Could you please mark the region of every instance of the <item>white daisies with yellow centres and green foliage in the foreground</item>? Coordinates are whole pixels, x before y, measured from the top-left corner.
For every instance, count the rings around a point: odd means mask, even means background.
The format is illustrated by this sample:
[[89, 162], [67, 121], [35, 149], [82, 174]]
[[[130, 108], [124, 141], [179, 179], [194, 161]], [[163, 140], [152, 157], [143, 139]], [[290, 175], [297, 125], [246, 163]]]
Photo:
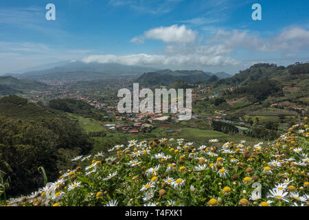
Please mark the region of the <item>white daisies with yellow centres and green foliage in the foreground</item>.
[[[308, 118], [273, 143], [130, 140], [8, 206], [308, 206]], [[111, 155], [110, 155], [111, 154]]]

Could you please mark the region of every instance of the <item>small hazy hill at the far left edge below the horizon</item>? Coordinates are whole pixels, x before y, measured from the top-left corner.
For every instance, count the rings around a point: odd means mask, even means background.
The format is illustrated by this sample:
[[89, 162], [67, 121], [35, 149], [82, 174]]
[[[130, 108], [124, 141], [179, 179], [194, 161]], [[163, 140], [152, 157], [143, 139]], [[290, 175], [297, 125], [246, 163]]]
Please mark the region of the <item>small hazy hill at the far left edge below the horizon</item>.
[[12, 76], [0, 76], [0, 86], [2, 87], [2, 89], [10, 88], [11, 92], [9, 94], [12, 94], [12, 89], [17, 91], [23, 89], [40, 89], [48, 87], [48, 85], [46, 85], [45, 83], [41, 83], [36, 80], [18, 79]]

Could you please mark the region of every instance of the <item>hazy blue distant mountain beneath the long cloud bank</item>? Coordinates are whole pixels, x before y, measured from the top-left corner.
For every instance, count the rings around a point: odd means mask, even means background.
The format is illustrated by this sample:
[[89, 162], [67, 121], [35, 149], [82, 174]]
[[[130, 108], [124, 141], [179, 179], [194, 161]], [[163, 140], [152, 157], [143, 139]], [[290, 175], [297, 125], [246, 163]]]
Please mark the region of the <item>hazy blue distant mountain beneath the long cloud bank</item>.
[[[71, 61], [51, 69], [43, 69], [19, 74], [19, 78], [30, 78], [39, 80], [57, 79], [98, 79], [105, 76], [117, 75], [135, 75], [144, 72], [152, 72], [156, 69], [150, 67], [140, 67], [131, 65], [122, 65], [119, 63], [84, 63], [82, 61]], [[16, 74], [14, 76], [17, 76]]]

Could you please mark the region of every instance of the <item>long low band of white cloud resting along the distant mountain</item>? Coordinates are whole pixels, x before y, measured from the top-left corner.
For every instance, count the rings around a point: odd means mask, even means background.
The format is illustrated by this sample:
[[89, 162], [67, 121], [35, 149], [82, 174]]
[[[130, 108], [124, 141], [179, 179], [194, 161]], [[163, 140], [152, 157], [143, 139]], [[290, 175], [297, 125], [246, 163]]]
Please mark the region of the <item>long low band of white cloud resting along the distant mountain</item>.
[[205, 56], [198, 54], [190, 55], [150, 55], [132, 54], [125, 56], [116, 55], [92, 55], [82, 59], [84, 63], [120, 63], [123, 65], [143, 65], [143, 66], [167, 66], [167, 67], [207, 67], [214, 65], [238, 65], [238, 61], [225, 56]]

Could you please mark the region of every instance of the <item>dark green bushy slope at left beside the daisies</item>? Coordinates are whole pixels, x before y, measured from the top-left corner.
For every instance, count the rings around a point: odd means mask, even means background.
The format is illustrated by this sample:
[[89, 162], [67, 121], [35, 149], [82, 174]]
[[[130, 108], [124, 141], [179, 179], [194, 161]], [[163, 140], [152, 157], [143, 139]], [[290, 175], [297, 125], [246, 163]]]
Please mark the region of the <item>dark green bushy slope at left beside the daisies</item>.
[[87, 153], [92, 142], [76, 120], [65, 113], [27, 102], [18, 96], [0, 98], [0, 163], [4, 179], [10, 177], [8, 195], [42, 186], [39, 166], [48, 179], [70, 163], [68, 157]]

